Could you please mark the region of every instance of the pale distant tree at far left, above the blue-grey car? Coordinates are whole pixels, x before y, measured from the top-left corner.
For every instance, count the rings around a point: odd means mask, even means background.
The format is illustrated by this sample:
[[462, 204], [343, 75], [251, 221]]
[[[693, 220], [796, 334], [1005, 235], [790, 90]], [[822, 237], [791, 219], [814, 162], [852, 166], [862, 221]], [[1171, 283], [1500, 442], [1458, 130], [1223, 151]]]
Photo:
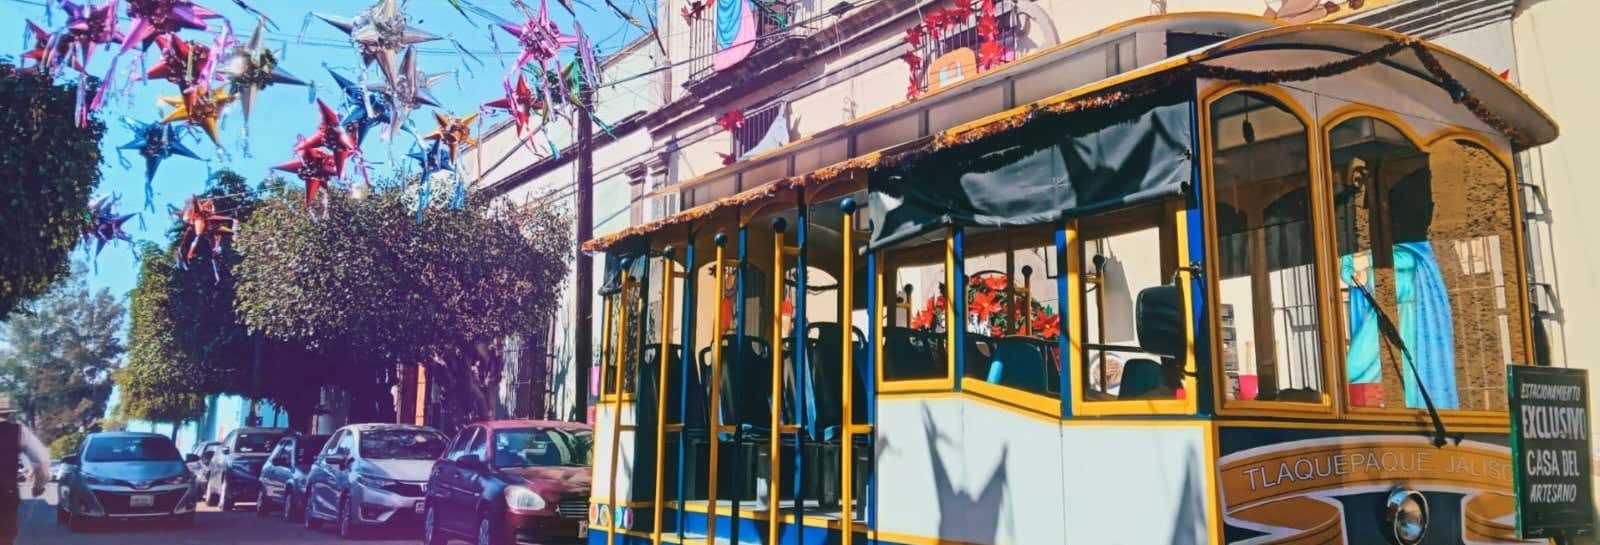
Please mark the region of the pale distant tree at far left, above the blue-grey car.
[[50, 441], [94, 425], [123, 355], [126, 310], [110, 291], [90, 291], [83, 267], [69, 283], [14, 313], [0, 331], [0, 388]]

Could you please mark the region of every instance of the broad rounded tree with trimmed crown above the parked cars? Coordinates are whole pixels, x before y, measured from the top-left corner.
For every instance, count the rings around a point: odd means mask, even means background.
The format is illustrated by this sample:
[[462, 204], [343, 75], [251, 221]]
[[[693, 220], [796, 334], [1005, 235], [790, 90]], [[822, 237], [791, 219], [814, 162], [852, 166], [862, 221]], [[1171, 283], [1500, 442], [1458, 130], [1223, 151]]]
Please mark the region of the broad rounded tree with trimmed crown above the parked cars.
[[290, 195], [238, 235], [237, 305], [254, 331], [341, 350], [344, 361], [426, 364], [454, 403], [450, 419], [485, 417], [501, 340], [557, 308], [568, 224], [560, 209], [480, 198], [418, 219], [398, 189], [330, 195], [314, 217]]

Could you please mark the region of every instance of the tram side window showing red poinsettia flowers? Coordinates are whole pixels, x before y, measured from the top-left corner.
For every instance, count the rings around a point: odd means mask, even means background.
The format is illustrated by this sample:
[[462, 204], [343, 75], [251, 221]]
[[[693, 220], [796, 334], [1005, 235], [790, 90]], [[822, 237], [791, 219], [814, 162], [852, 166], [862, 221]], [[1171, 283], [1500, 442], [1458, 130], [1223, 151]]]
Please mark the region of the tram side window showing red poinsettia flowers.
[[965, 376], [1054, 398], [1061, 297], [1053, 232], [968, 229], [965, 249]]

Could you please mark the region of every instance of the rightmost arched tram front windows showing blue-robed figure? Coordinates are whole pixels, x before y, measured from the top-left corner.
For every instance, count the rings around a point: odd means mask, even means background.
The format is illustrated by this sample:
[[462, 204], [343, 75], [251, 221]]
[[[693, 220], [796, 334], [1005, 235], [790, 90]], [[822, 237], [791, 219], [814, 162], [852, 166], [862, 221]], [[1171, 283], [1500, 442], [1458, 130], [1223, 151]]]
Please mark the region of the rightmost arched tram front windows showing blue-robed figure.
[[1421, 150], [1371, 117], [1328, 136], [1350, 404], [1422, 408], [1426, 388], [1438, 409], [1504, 411], [1506, 364], [1530, 361], [1509, 173], [1475, 144]]

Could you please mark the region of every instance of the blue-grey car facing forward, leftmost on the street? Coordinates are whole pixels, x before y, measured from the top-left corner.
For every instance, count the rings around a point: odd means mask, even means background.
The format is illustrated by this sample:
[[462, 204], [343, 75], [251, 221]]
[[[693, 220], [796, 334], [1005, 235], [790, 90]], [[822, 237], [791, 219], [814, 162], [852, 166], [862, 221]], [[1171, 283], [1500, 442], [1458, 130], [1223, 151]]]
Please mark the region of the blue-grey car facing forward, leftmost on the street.
[[[192, 457], [192, 454], [190, 454]], [[194, 524], [200, 487], [173, 440], [155, 433], [91, 433], [61, 459], [56, 523], [77, 532], [94, 521], [168, 518]]]

